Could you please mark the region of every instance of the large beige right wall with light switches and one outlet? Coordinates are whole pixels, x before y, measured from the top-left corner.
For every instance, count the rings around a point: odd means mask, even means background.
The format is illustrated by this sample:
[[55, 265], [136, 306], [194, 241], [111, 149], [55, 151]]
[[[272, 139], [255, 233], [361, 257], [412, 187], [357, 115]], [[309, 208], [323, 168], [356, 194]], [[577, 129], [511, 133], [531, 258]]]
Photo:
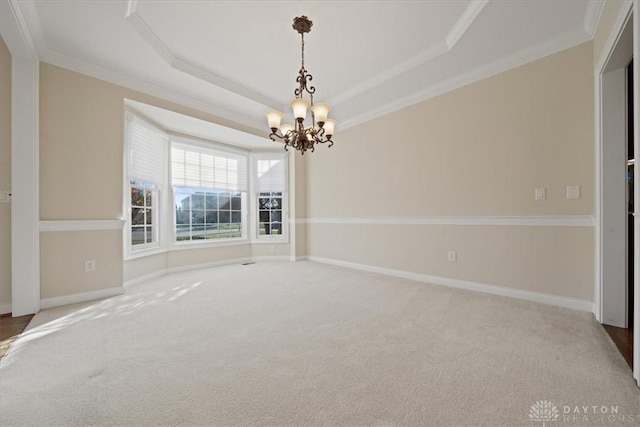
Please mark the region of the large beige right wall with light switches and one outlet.
[[[307, 216], [593, 215], [592, 55], [584, 43], [338, 132], [307, 159]], [[593, 232], [312, 223], [307, 243], [310, 256], [591, 301]]]

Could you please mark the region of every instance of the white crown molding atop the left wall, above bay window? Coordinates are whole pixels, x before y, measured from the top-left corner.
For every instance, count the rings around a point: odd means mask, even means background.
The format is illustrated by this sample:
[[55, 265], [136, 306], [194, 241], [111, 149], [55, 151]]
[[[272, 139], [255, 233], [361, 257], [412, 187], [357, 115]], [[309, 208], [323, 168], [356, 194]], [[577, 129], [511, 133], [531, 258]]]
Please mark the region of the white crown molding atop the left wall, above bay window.
[[232, 122], [242, 123], [243, 125], [251, 127], [257, 131], [264, 132], [263, 121], [258, 120], [256, 117], [247, 116], [235, 110], [230, 110], [228, 108], [211, 104], [207, 101], [196, 98], [192, 95], [182, 93], [178, 90], [168, 89], [166, 87], [162, 87], [154, 83], [144, 81], [142, 79], [121, 74], [94, 64], [90, 64], [88, 62], [78, 60], [76, 58], [71, 58], [52, 50], [47, 50], [46, 52], [44, 52], [41, 59], [43, 62], [55, 65], [57, 67], [66, 68], [68, 70], [104, 80], [106, 82], [113, 83], [127, 89], [135, 90], [147, 95], [175, 102], [176, 104], [184, 105], [185, 107], [212, 114], [214, 116]]

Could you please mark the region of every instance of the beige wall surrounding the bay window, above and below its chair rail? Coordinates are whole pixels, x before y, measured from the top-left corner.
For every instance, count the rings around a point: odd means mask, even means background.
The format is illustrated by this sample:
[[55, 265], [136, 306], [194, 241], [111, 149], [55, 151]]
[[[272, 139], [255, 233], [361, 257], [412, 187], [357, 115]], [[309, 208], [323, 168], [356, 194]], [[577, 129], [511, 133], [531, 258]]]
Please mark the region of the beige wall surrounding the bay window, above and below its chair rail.
[[[109, 220], [123, 216], [125, 98], [232, 125], [187, 107], [42, 63], [41, 220]], [[234, 127], [238, 128], [237, 125]], [[240, 130], [248, 131], [241, 127]], [[288, 255], [288, 244], [273, 246], [274, 253], [271, 253], [270, 245], [223, 246], [174, 251], [123, 263], [120, 231], [42, 233], [42, 297], [122, 286], [125, 281], [189, 265], [251, 256]], [[84, 261], [88, 259], [95, 259], [96, 272], [84, 272]]]

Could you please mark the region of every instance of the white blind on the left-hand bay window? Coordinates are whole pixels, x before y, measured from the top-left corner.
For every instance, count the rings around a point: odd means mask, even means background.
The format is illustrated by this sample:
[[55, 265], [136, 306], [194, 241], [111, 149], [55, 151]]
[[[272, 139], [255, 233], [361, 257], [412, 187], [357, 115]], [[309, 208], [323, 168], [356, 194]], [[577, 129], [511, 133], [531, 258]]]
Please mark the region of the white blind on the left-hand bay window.
[[164, 185], [167, 176], [167, 135], [133, 115], [127, 117], [129, 180]]

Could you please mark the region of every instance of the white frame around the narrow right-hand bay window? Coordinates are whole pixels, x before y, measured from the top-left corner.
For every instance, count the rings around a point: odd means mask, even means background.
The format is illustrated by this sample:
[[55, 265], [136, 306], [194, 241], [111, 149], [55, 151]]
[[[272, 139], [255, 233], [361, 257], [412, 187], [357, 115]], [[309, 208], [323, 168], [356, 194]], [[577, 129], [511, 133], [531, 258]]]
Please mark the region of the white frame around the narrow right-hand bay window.
[[[258, 198], [258, 160], [282, 159], [284, 162], [284, 190], [282, 191], [282, 234], [260, 235]], [[249, 205], [250, 221], [252, 224], [251, 243], [273, 244], [289, 243], [289, 156], [287, 152], [256, 152], [251, 154], [250, 189], [251, 203]]]

